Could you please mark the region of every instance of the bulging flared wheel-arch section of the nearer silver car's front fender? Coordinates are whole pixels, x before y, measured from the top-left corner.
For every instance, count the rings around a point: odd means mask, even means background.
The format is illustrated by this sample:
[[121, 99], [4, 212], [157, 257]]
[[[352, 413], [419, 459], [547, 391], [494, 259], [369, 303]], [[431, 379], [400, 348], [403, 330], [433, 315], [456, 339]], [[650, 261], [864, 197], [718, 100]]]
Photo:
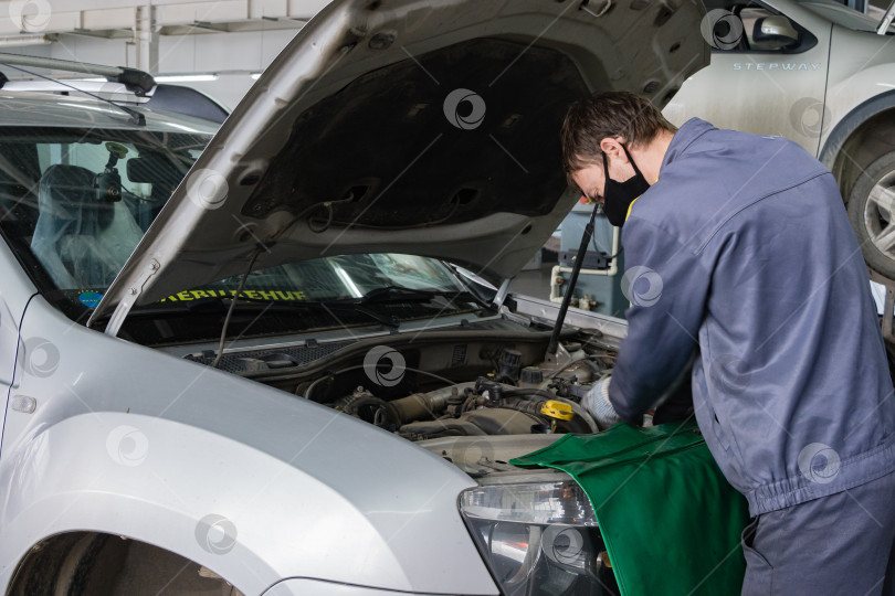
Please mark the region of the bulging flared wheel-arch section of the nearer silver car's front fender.
[[[46, 536], [93, 531], [164, 547], [245, 594], [288, 575], [288, 558], [309, 562], [320, 552], [409, 585], [382, 536], [352, 503], [220, 435], [103, 412], [66, 418], [23, 447], [3, 470], [4, 485], [14, 487], [0, 522], [4, 565]], [[323, 563], [304, 571], [327, 576]], [[4, 576], [10, 572], [4, 568]]]

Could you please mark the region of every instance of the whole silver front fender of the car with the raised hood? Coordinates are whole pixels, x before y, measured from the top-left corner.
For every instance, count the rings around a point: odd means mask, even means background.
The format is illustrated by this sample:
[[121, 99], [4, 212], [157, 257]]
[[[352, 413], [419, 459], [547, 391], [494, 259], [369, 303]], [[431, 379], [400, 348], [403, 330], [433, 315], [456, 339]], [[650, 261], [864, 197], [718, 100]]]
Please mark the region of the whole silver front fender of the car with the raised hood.
[[[22, 323], [0, 460], [0, 585], [46, 536], [164, 547], [246, 594], [286, 577], [494, 594], [457, 511], [475, 482], [411, 443], [283, 391], [73, 323], [42, 297]], [[462, 568], [463, 573], [455, 573]]]

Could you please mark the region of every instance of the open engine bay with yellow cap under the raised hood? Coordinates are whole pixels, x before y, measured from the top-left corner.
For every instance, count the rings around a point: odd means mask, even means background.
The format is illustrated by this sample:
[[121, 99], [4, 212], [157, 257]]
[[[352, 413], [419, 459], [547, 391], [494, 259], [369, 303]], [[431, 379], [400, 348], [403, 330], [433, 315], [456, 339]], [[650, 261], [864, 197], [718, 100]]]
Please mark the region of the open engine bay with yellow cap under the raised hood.
[[597, 331], [569, 330], [546, 358], [548, 341], [546, 330], [503, 320], [415, 339], [231, 352], [221, 366], [412, 441], [598, 432], [580, 401], [610, 373], [614, 348]]

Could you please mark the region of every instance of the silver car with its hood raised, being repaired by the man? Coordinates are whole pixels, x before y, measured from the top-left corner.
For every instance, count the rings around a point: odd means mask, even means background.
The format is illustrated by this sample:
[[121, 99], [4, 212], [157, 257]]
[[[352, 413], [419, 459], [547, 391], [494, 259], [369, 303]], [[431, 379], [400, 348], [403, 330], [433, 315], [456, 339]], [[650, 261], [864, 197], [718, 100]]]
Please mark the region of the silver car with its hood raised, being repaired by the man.
[[340, 0], [217, 132], [2, 92], [0, 587], [606, 593], [577, 485], [506, 461], [596, 430], [624, 324], [547, 354], [507, 280], [577, 200], [567, 105], [664, 104], [702, 17]]

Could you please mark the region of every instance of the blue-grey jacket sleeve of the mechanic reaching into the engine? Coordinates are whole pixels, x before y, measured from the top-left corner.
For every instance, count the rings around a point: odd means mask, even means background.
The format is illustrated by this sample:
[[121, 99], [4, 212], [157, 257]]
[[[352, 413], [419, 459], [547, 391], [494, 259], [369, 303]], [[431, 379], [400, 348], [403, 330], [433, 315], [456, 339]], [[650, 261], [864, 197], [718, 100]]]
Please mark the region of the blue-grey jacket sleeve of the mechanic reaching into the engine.
[[698, 347], [710, 272], [692, 245], [651, 222], [629, 220], [623, 240], [622, 290], [632, 306], [609, 401], [621, 419], [639, 425]]

